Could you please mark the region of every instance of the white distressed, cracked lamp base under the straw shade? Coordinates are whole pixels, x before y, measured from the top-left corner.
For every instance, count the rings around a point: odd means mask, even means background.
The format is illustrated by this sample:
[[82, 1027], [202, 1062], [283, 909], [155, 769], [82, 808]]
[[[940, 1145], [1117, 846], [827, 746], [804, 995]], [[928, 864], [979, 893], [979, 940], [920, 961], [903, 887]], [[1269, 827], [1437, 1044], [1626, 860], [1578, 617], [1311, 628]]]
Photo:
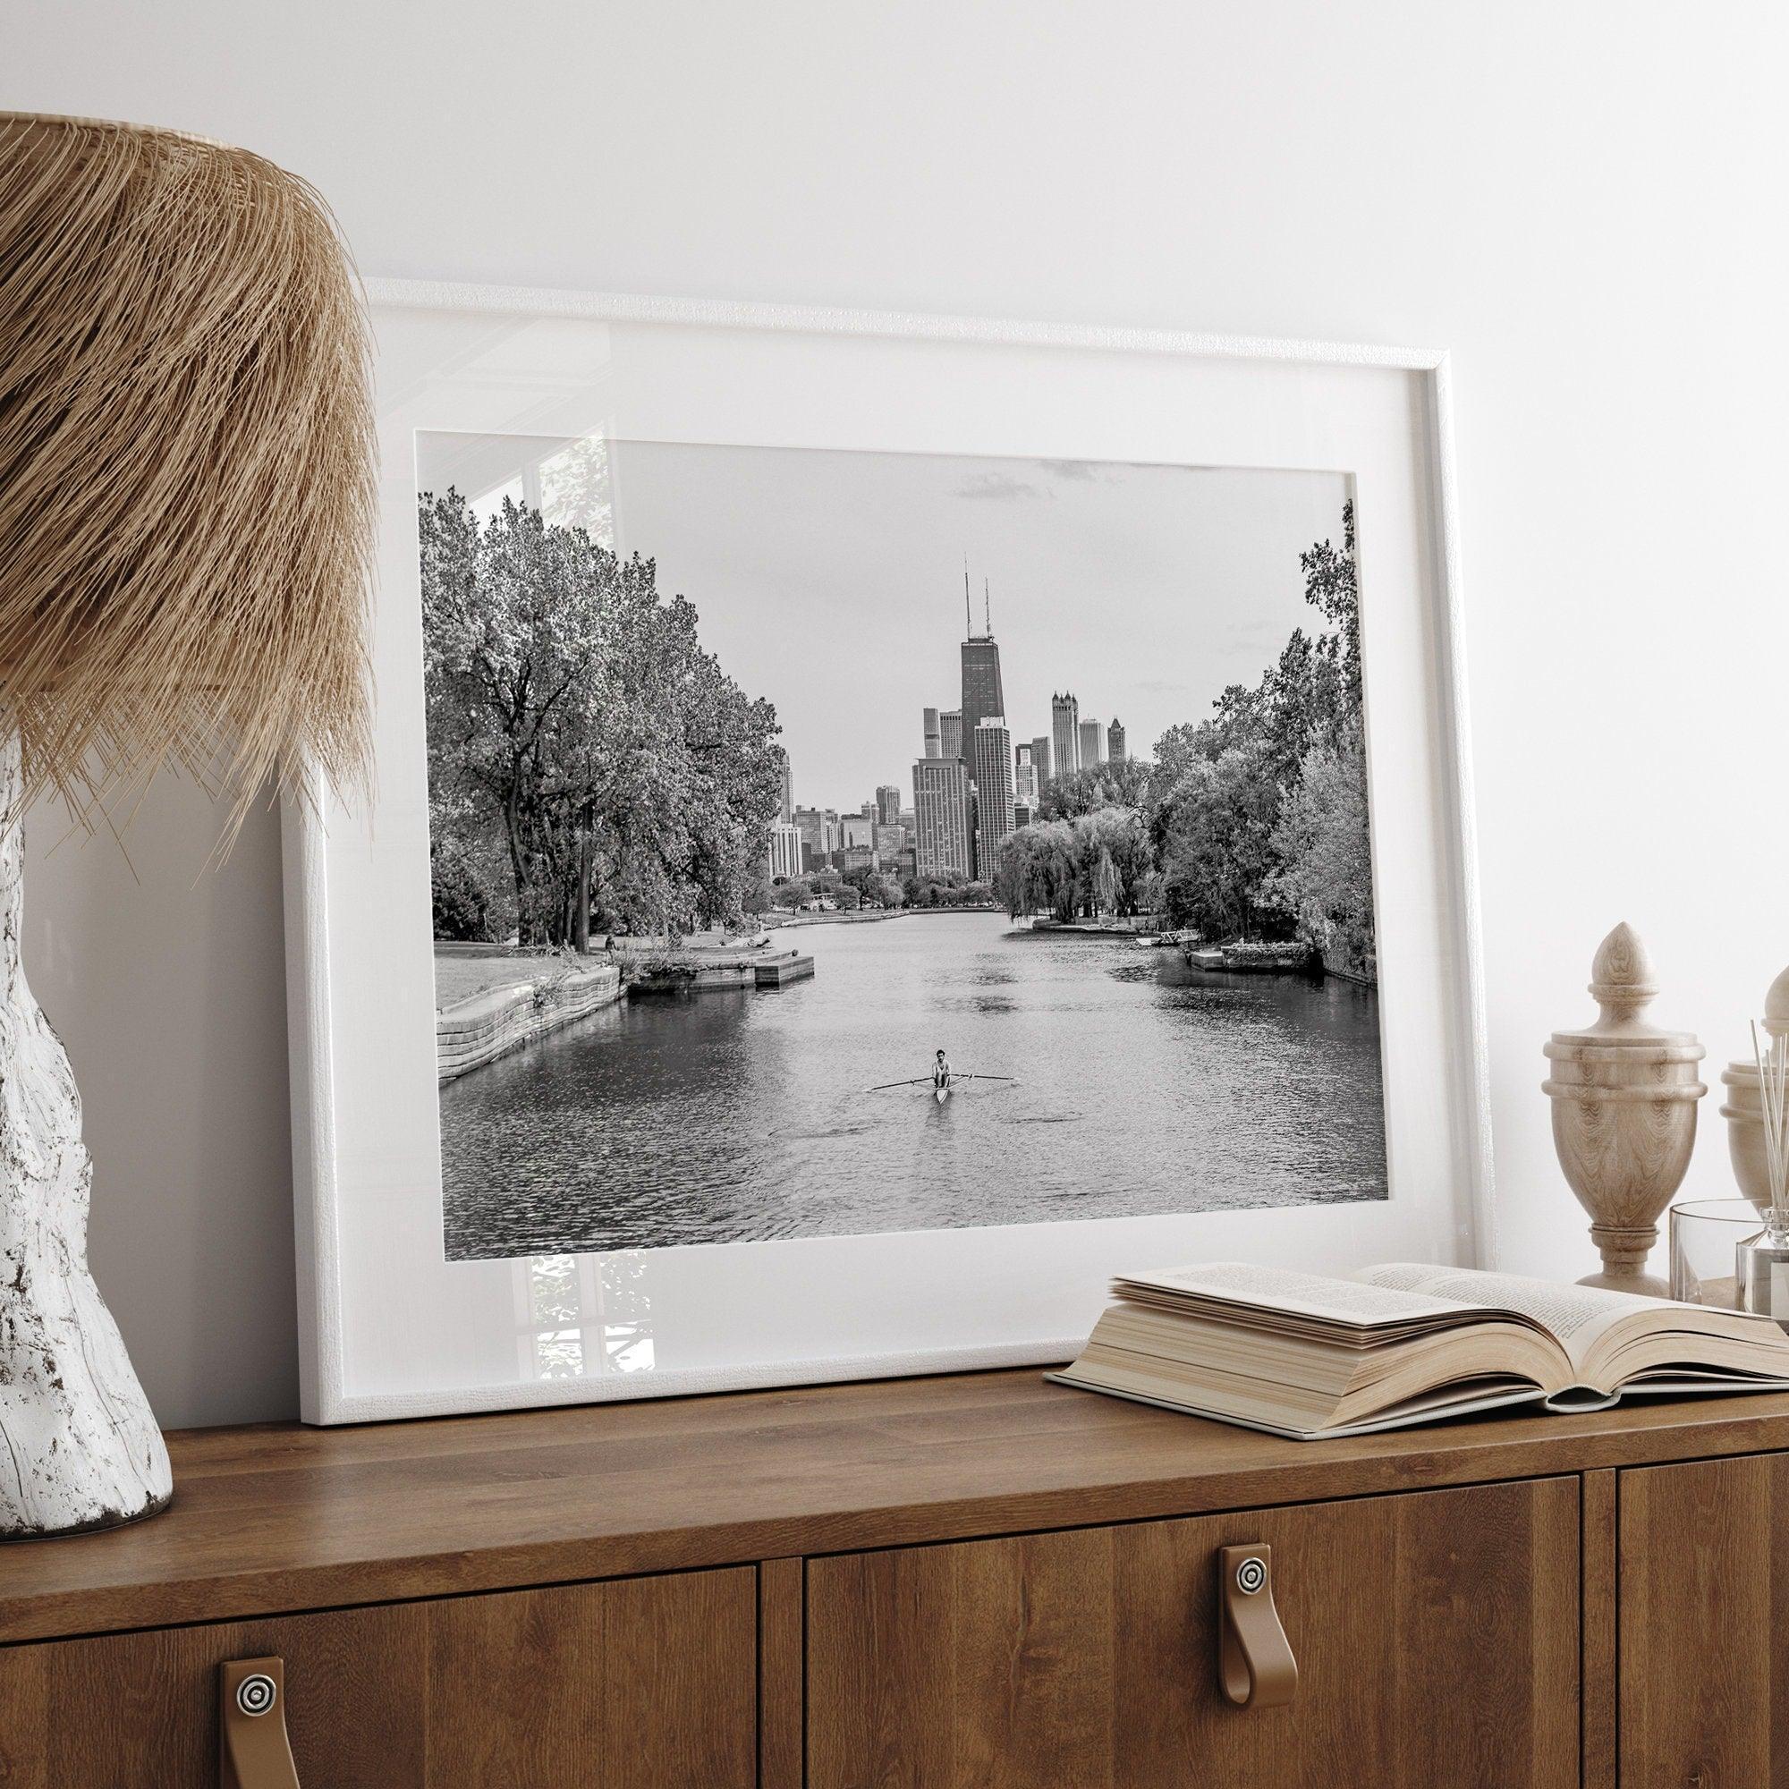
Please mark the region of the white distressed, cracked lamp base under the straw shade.
[[[18, 741], [0, 812], [18, 814]], [[168, 1449], [88, 1272], [81, 1093], [20, 961], [25, 828], [0, 827], [0, 1539], [111, 1528], [174, 1496]]]

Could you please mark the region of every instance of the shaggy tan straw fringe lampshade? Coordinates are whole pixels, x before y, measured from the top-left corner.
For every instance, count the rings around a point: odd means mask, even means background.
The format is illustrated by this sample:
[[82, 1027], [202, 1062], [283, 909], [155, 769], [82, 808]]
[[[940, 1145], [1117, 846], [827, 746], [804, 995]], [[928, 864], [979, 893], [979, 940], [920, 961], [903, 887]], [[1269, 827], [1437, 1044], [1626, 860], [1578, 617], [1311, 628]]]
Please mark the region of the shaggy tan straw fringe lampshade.
[[0, 689], [27, 800], [177, 764], [236, 819], [370, 762], [369, 331], [322, 200], [168, 131], [0, 114]]

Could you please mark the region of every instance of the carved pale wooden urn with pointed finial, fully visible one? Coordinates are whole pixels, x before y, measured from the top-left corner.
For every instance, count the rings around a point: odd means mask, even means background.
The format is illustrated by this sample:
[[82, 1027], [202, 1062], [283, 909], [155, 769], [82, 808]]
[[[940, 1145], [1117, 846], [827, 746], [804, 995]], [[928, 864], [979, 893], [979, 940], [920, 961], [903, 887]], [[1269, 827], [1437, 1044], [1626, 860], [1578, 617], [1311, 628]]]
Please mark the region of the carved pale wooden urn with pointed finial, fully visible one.
[[1667, 1297], [1646, 1274], [1658, 1215], [1683, 1183], [1696, 1147], [1696, 1100], [1708, 1090], [1696, 1064], [1707, 1054], [1687, 1030], [1660, 1030], [1642, 1014], [1658, 986], [1646, 946], [1626, 923], [1603, 939], [1590, 964], [1599, 1016], [1583, 1030], [1556, 1030], [1542, 1091], [1553, 1100], [1553, 1147], [1603, 1272], [1583, 1286]]

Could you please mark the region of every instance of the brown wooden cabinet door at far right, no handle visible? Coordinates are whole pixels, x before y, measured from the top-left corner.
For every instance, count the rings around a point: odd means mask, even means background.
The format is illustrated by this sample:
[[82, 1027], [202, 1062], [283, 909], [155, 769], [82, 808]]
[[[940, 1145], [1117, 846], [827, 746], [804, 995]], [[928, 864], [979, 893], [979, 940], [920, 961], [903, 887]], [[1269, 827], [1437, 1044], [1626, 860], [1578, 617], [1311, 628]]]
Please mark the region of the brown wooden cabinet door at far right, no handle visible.
[[1621, 1789], [1789, 1785], [1785, 1499], [1789, 1454], [1621, 1474]]

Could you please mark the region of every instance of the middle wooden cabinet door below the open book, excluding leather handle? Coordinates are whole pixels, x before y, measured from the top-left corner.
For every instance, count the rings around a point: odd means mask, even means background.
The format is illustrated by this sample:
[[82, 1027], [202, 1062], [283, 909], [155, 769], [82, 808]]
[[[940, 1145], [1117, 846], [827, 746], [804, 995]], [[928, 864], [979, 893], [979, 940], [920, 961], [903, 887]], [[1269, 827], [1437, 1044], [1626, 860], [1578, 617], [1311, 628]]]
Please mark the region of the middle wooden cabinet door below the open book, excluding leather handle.
[[[1265, 1540], [1299, 1685], [1217, 1682], [1217, 1553]], [[1578, 1481], [819, 1558], [809, 1789], [1567, 1789]]]

